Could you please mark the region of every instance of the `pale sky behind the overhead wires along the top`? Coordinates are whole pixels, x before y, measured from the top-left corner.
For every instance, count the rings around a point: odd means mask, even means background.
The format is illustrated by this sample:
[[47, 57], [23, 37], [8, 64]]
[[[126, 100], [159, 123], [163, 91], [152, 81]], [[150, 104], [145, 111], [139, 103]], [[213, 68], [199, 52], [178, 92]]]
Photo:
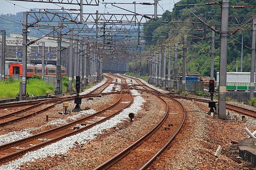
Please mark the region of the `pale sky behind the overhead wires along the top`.
[[[111, 6], [111, 4], [103, 5], [102, 3], [132, 3], [134, 0], [100, 0], [99, 6], [84, 6], [84, 13], [95, 13], [96, 10], [99, 13], [109, 12], [109, 13], [129, 13], [122, 9]], [[172, 11], [174, 3], [179, 0], [160, 0], [158, 3], [160, 6], [157, 8], [157, 14], [163, 14], [164, 11]], [[136, 3], [149, 2], [154, 3], [154, 0], [137, 0]], [[14, 5], [15, 4], [15, 5]], [[15, 0], [0, 0], [0, 14], [16, 14], [20, 11], [28, 11], [30, 8], [55, 8], [60, 9], [60, 6], [64, 8], [79, 8], [78, 5], [63, 5], [63, 4], [52, 4], [52, 3], [35, 3], [35, 2], [20, 2]], [[117, 6], [117, 5], [116, 5]], [[122, 8], [134, 11], [133, 4], [122, 4], [118, 5]], [[154, 6], [137, 5], [136, 12], [140, 14], [154, 14]]]

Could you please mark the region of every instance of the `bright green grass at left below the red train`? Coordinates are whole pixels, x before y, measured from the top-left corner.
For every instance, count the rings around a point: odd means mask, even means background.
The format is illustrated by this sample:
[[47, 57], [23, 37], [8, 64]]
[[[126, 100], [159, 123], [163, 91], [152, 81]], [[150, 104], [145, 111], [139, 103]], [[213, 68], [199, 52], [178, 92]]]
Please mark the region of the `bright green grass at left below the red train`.
[[[15, 98], [19, 93], [20, 81], [13, 81], [9, 79], [8, 81], [0, 81], [0, 99]], [[46, 91], [50, 94], [54, 92], [53, 85], [49, 85], [42, 79], [28, 79], [27, 80], [27, 92], [31, 96], [45, 95]]]

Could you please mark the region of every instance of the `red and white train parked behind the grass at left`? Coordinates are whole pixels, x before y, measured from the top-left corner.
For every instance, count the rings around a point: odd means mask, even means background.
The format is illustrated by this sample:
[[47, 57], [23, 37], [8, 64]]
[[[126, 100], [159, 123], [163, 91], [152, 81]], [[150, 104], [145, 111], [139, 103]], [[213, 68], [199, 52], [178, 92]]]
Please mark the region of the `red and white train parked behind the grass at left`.
[[[12, 74], [18, 74], [22, 76], [22, 64], [12, 63], [9, 65], [9, 76]], [[32, 77], [34, 74], [41, 76], [42, 65], [41, 64], [27, 64], [26, 77]], [[44, 67], [44, 74], [50, 76], [56, 76], [56, 65], [48, 64]], [[61, 65], [61, 77], [67, 76], [66, 68]]]

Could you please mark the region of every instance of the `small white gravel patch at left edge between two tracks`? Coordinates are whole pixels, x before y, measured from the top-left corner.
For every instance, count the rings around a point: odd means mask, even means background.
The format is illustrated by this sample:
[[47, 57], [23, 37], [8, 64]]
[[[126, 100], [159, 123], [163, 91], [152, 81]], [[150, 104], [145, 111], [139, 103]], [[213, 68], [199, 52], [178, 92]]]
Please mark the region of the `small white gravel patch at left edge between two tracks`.
[[32, 134], [29, 133], [27, 130], [22, 130], [20, 132], [10, 132], [4, 135], [0, 135], [0, 145], [10, 143], [13, 141], [17, 141], [19, 139], [26, 138], [28, 136], [31, 136]]

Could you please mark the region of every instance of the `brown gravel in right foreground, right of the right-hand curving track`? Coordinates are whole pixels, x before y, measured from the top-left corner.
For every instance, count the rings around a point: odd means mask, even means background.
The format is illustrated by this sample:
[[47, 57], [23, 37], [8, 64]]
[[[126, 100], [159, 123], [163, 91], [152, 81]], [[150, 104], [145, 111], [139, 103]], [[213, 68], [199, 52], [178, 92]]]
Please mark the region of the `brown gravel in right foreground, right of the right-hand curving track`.
[[[149, 169], [151, 170], [254, 170], [249, 162], [236, 159], [239, 156], [237, 144], [230, 140], [244, 139], [244, 122], [213, 120], [205, 112], [207, 104], [180, 99], [185, 105], [187, 119], [185, 127]], [[215, 158], [218, 145], [223, 147], [221, 155]], [[236, 163], [236, 161], [241, 163]]]

